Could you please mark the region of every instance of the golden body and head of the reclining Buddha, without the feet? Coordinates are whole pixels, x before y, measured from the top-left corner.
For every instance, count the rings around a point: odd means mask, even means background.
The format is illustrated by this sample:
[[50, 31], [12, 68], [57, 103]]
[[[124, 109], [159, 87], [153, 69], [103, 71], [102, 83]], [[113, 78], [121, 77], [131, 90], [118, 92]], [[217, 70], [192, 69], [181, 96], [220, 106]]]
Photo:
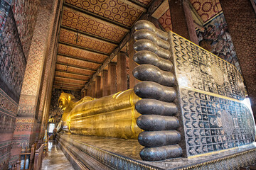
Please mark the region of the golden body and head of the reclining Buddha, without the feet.
[[58, 130], [63, 128], [74, 134], [136, 139], [142, 132], [136, 123], [140, 115], [134, 108], [137, 101], [139, 97], [133, 89], [97, 99], [84, 97], [80, 101], [75, 101], [71, 94], [62, 93], [59, 104], [64, 112]]

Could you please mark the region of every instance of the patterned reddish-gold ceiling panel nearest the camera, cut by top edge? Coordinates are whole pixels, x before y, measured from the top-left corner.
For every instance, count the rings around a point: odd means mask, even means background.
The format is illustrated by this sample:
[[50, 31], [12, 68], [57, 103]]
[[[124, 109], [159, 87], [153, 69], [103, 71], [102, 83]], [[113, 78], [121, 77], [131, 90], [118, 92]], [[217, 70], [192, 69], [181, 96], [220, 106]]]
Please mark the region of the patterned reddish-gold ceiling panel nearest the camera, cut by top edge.
[[[147, 0], [140, 1], [146, 3]], [[132, 26], [143, 12], [143, 9], [139, 6], [125, 4], [121, 0], [65, 0], [65, 3], [96, 13], [125, 26]]]

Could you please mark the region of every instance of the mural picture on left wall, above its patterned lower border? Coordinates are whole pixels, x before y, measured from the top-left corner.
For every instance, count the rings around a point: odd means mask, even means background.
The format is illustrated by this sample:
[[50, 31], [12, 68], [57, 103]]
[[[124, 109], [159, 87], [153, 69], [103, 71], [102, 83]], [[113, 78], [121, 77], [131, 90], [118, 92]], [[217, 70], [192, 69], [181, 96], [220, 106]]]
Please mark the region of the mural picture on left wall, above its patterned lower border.
[[26, 58], [23, 54], [18, 31], [12, 12], [0, 39], [0, 88], [18, 103], [21, 93], [23, 74], [26, 69]]

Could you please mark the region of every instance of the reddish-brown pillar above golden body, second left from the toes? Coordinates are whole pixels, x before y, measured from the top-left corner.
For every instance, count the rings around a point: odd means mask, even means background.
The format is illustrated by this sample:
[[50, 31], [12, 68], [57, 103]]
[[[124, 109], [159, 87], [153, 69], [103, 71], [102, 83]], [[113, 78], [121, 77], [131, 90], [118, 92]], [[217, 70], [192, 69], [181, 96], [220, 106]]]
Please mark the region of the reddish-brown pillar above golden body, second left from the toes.
[[119, 52], [117, 54], [117, 91], [127, 90], [127, 63], [126, 54]]

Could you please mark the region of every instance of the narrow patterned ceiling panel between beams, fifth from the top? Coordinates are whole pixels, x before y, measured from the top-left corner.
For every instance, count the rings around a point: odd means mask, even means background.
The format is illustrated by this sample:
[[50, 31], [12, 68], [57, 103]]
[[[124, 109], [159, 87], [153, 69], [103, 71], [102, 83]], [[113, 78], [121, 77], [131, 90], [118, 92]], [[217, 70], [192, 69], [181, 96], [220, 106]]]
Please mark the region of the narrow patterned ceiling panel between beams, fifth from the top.
[[73, 59], [73, 58], [70, 58], [70, 57], [63, 57], [61, 55], [57, 56], [57, 62], [67, 63], [67, 64], [70, 64], [70, 65], [76, 65], [76, 66], [79, 66], [79, 67], [87, 67], [87, 68], [95, 69], [95, 70], [101, 66], [101, 64], [76, 60], [76, 59]]

